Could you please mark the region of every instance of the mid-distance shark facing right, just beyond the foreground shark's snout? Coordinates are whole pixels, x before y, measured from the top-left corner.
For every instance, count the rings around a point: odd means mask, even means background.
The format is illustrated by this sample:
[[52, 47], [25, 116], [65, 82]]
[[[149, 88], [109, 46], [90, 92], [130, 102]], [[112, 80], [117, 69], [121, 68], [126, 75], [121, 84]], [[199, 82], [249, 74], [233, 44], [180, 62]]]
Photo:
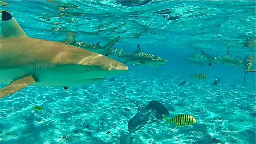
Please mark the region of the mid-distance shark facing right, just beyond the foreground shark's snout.
[[149, 67], [154, 67], [156, 70], [158, 70], [159, 66], [168, 63], [167, 60], [160, 58], [159, 56], [154, 56], [153, 54], [146, 54], [142, 52], [139, 44], [137, 45], [137, 49], [134, 51], [134, 53], [120, 55], [117, 58], [127, 64], [146, 65]]

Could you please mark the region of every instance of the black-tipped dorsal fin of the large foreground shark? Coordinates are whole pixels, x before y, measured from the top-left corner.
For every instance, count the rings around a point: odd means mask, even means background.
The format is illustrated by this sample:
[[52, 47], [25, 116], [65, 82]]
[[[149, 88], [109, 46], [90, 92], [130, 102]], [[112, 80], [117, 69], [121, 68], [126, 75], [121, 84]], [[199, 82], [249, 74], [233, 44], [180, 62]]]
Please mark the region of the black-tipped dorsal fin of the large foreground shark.
[[7, 37], [26, 36], [17, 21], [7, 11], [2, 11], [2, 34], [0, 39]]

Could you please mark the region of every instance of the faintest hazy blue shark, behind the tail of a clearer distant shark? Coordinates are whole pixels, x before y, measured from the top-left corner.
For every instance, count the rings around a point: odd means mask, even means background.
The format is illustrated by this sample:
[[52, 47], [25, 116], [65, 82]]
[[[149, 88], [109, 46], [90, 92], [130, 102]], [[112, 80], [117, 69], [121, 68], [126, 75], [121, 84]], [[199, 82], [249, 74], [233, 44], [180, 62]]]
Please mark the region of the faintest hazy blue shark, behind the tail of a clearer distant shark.
[[200, 66], [203, 66], [203, 65], [208, 65], [208, 60], [207, 58], [205, 58], [205, 56], [203, 56], [202, 54], [191, 54], [189, 56], [187, 56], [188, 59], [184, 59], [184, 60], [181, 60], [178, 58], [178, 61], [179, 63], [187, 63], [187, 64], [195, 64], [195, 65], [200, 65]]

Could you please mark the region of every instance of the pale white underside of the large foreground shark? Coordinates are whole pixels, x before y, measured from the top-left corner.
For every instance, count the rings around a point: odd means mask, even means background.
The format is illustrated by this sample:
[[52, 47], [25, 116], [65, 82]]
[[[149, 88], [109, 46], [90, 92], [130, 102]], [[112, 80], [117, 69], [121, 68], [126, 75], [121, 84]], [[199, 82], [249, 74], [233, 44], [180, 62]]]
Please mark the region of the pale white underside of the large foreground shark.
[[[80, 71], [77, 67], [81, 67]], [[62, 65], [56, 67], [40, 67], [40, 65], [16, 67], [11, 69], [0, 69], [0, 83], [9, 84], [13, 80], [21, 77], [32, 75], [36, 82], [34, 86], [73, 86], [85, 85], [100, 82], [104, 80], [105, 75], [109, 72], [91, 72], [85, 73], [84, 68], [80, 65]], [[111, 75], [110, 75], [111, 76]]]

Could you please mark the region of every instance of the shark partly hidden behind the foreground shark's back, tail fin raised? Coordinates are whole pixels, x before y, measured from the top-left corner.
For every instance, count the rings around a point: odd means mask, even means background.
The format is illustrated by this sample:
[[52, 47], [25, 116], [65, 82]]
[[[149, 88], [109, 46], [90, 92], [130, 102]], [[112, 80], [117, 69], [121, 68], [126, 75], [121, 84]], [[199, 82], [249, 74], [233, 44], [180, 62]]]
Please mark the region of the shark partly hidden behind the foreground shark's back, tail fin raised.
[[116, 37], [115, 39], [113, 39], [112, 41], [107, 43], [104, 47], [101, 47], [99, 41], [96, 44], [89, 44], [89, 43], [76, 41], [75, 33], [70, 32], [70, 33], [68, 33], [67, 37], [64, 40], [59, 41], [59, 42], [73, 45], [76, 47], [80, 47], [82, 49], [86, 49], [86, 50], [107, 56], [107, 51], [109, 51], [109, 49], [111, 49], [111, 47], [113, 47], [113, 45], [115, 45], [115, 43], [118, 42], [119, 38], [120, 38], [120, 36]]

